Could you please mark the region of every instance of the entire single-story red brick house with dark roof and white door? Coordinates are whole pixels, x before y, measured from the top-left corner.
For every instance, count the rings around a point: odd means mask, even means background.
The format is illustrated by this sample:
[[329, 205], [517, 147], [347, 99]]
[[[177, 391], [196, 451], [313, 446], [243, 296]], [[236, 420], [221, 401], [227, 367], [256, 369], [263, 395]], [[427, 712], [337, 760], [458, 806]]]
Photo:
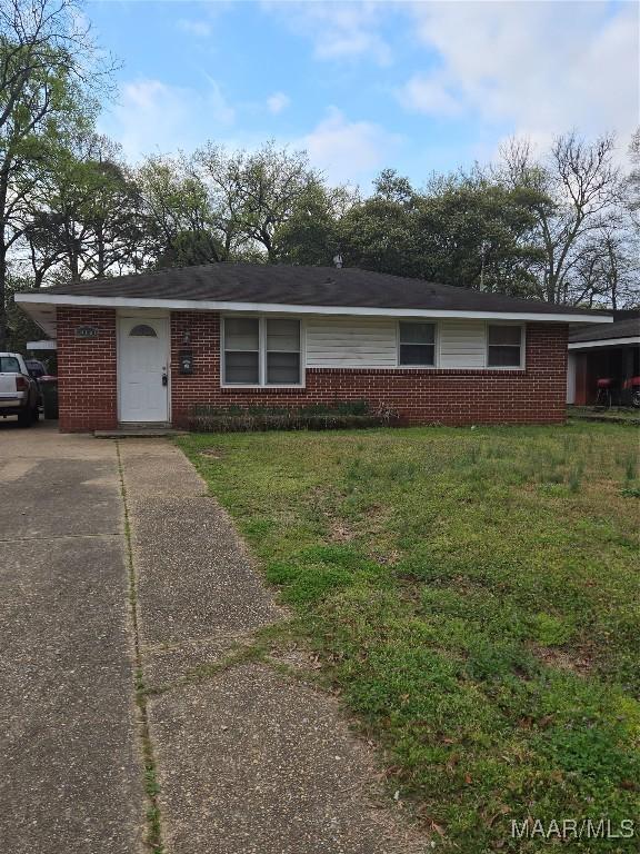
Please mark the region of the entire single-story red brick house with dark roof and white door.
[[194, 404], [367, 399], [409, 424], [564, 419], [570, 324], [606, 315], [352, 268], [218, 264], [18, 294], [58, 342], [60, 429]]

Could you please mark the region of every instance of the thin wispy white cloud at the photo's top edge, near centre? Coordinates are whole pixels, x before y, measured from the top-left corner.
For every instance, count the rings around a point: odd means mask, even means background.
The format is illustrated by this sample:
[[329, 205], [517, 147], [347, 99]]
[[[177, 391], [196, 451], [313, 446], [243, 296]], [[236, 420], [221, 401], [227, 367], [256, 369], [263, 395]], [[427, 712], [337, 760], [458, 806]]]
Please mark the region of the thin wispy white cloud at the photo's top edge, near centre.
[[313, 42], [313, 56], [323, 60], [369, 57], [380, 66], [391, 62], [391, 48], [380, 33], [386, 9], [372, 0], [339, 2], [263, 2], [287, 23]]

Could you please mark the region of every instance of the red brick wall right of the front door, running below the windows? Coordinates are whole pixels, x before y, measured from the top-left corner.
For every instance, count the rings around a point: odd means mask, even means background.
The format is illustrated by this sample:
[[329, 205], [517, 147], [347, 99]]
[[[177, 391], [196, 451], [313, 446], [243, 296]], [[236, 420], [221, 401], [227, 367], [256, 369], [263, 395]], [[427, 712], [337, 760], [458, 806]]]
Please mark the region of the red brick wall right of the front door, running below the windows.
[[[178, 373], [184, 331], [194, 374]], [[410, 424], [533, 424], [564, 420], [568, 327], [529, 324], [524, 370], [308, 368], [304, 389], [220, 388], [216, 314], [179, 312], [171, 321], [172, 420], [186, 426], [192, 404], [296, 406], [366, 398], [398, 409]]]

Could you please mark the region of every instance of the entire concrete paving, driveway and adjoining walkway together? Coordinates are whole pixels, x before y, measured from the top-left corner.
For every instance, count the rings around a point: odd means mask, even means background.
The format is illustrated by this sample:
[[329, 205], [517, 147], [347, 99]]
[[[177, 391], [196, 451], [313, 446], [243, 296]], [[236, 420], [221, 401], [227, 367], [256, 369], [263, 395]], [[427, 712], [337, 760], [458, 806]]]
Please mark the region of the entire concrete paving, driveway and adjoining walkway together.
[[427, 850], [334, 699], [229, 658], [283, 614], [176, 447], [0, 423], [0, 489], [2, 854], [150, 851], [142, 747], [166, 854]]

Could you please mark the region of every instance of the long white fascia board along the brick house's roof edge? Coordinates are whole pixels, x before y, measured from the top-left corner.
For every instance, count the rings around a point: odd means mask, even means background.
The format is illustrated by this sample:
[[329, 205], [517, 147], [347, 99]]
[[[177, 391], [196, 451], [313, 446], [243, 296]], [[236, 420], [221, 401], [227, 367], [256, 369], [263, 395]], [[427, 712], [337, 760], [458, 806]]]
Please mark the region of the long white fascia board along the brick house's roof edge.
[[70, 294], [16, 294], [17, 302], [100, 308], [164, 308], [173, 311], [239, 311], [279, 315], [350, 315], [369, 317], [462, 317], [486, 320], [540, 320], [562, 324], [610, 324], [612, 317], [539, 314], [536, 311], [456, 311], [429, 308], [369, 308], [366, 306], [293, 306], [283, 302], [224, 302], [204, 299], [150, 299], [148, 297], [79, 297]]

